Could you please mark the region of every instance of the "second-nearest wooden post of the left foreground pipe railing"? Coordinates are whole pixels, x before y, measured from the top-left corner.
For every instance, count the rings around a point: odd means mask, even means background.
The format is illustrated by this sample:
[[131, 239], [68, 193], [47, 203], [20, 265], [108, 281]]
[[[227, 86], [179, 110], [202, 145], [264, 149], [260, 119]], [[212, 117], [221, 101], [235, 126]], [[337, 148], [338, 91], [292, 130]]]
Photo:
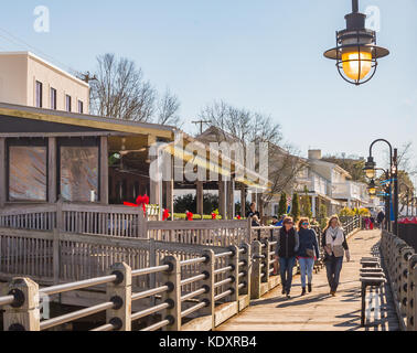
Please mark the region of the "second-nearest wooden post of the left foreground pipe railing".
[[107, 323], [113, 323], [116, 331], [131, 331], [131, 268], [125, 263], [115, 264], [108, 275], [117, 279], [107, 284], [107, 299], [115, 302], [115, 308], [106, 311]]

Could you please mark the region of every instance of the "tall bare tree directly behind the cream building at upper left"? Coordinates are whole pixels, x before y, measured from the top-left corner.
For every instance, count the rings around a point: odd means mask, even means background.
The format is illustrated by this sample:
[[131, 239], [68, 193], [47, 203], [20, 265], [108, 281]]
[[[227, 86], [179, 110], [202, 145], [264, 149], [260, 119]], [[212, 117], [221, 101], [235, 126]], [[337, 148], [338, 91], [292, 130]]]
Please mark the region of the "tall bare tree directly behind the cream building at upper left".
[[115, 54], [97, 57], [92, 81], [93, 113], [118, 119], [149, 121], [154, 113], [156, 90], [143, 79], [135, 62]]

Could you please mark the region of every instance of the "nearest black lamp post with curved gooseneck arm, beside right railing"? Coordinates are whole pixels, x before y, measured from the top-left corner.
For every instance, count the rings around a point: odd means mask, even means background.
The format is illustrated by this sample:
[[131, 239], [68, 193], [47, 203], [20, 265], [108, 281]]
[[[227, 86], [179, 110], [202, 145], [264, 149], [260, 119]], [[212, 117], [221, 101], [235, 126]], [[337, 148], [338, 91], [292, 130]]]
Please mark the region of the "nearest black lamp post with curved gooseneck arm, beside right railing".
[[[365, 163], [364, 171], [366, 173], [366, 176], [372, 179], [376, 175], [376, 163], [374, 161], [374, 158], [372, 157], [372, 149], [377, 142], [385, 142], [389, 147], [389, 174], [387, 174], [387, 179], [391, 180], [391, 182], [394, 182], [394, 229], [393, 233], [395, 235], [398, 235], [398, 150], [393, 149], [393, 146], [385, 139], [377, 139], [374, 142], [371, 143], [370, 147], [370, 157], [367, 158], [367, 162]], [[372, 182], [371, 182], [372, 183]], [[392, 186], [389, 186], [389, 201], [391, 195], [393, 194], [391, 192]], [[391, 203], [389, 203], [389, 210], [391, 210]], [[391, 216], [387, 218], [387, 225], [391, 224]], [[388, 229], [391, 227], [388, 226]]]

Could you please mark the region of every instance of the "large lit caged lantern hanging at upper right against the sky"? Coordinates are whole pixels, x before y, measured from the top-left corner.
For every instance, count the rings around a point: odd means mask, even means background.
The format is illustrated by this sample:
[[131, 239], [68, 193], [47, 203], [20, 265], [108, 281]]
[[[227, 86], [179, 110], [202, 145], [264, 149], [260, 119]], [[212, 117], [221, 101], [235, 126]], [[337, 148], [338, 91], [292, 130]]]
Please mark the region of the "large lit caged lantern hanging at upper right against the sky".
[[377, 60], [389, 55], [389, 51], [377, 46], [376, 32], [365, 28], [366, 14], [359, 12], [359, 0], [352, 0], [352, 13], [344, 18], [346, 29], [336, 32], [336, 47], [324, 56], [336, 61], [344, 81], [359, 86], [372, 79]]

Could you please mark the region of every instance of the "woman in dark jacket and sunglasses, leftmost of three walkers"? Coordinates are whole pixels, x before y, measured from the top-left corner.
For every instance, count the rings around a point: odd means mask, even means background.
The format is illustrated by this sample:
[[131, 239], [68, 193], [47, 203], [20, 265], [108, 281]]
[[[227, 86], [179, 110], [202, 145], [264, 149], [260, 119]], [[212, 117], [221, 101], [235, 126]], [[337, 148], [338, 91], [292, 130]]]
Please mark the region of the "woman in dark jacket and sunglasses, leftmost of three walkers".
[[290, 299], [292, 270], [296, 266], [296, 255], [300, 246], [300, 242], [298, 233], [293, 227], [292, 218], [285, 218], [282, 224], [282, 228], [279, 229], [278, 245], [275, 253], [275, 258], [277, 261], [279, 261], [282, 295], [287, 295], [287, 298]]

